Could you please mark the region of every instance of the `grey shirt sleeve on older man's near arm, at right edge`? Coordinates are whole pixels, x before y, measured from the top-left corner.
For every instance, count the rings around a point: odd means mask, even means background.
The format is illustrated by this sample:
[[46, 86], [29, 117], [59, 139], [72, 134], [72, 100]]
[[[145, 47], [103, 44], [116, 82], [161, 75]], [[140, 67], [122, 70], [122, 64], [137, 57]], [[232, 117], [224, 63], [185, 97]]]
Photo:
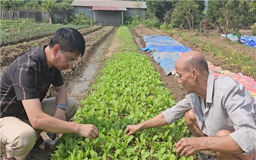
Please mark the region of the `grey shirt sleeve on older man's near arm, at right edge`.
[[223, 97], [223, 106], [226, 107], [229, 118], [234, 124], [235, 131], [230, 137], [246, 153], [256, 150], [255, 109], [256, 102], [244, 85], [237, 84]]

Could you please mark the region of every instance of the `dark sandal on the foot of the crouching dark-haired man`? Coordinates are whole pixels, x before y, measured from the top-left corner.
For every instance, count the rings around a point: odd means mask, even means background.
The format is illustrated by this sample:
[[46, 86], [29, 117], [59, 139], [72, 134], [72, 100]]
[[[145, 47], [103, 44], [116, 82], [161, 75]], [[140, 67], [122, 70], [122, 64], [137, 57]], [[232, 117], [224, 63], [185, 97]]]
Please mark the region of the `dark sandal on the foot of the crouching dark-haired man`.
[[[42, 145], [42, 143], [44, 142], [44, 149], [40, 148], [39, 146]], [[56, 143], [55, 140], [51, 141], [50, 139], [44, 140], [42, 138], [42, 136], [40, 135], [40, 137], [38, 138], [38, 140], [36, 140], [35, 146], [32, 148], [31, 151], [35, 151], [35, 152], [47, 152], [52, 150], [51, 146], [54, 146]]]

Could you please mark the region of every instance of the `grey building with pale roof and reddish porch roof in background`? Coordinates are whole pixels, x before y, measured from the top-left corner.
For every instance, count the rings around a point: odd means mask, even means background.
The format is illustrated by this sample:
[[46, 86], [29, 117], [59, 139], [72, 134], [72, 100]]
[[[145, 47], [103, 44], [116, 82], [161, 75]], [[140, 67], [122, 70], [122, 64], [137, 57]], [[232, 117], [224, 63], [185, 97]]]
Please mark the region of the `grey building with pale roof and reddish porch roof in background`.
[[144, 18], [146, 2], [135, 1], [109, 1], [109, 0], [75, 0], [71, 5], [74, 13], [84, 12], [95, 23], [102, 25], [123, 25], [124, 19], [139, 15]]

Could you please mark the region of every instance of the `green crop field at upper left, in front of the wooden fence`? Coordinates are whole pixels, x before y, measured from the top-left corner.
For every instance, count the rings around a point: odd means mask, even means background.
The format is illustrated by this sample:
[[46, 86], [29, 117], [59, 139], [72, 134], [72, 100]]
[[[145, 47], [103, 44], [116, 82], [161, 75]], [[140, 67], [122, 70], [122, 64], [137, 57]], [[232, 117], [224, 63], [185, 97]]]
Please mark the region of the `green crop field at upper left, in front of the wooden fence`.
[[84, 25], [62, 25], [50, 23], [38, 23], [34, 20], [9, 21], [1, 20], [1, 46], [17, 44], [23, 41], [50, 36], [59, 28], [85, 28]]

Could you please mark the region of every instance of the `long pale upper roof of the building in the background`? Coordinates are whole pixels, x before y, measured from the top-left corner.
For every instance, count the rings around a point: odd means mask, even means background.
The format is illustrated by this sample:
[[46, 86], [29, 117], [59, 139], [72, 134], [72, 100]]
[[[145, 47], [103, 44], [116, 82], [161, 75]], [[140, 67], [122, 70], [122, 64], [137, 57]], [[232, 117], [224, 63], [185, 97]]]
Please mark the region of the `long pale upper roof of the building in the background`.
[[146, 2], [134, 1], [99, 1], [99, 0], [75, 0], [71, 3], [72, 6], [102, 6], [102, 7], [126, 7], [132, 9], [147, 9]]

